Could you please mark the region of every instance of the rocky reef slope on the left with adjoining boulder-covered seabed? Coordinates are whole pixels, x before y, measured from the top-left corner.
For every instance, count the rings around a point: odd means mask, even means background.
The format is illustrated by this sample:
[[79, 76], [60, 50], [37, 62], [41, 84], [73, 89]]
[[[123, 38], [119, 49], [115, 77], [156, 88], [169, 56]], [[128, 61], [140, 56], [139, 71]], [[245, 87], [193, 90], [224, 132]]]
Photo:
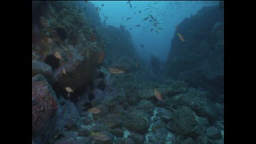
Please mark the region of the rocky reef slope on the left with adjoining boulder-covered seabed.
[[95, 29], [73, 1], [34, 1], [32, 12], [33, 143], [223, 143], [223, 103], [184, 81], [141, 81], [128, 31]]

